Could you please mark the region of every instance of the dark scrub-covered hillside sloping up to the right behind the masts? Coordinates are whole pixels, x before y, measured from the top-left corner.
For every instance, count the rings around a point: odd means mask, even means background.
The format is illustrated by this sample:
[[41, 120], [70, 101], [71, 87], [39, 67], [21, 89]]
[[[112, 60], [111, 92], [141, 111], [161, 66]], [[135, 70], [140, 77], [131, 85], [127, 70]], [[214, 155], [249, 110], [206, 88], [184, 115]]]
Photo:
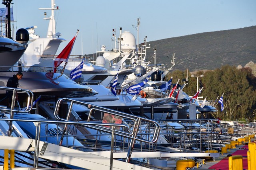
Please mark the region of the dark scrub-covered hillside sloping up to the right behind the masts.
[[147, 50], [148, 61], [154, 63], [152, 56], [156, 48], [157, 63], [165, 62], [166, 67], [170, 67], [172, 53], [175, 53], [175, 69], [179, 70], [188, 68], [192, 72], [214, 70], [225, 64], [245, 66], [250, 61], [256, 63], [256, 26], [198, 33], [149, 43], [151, 48]]

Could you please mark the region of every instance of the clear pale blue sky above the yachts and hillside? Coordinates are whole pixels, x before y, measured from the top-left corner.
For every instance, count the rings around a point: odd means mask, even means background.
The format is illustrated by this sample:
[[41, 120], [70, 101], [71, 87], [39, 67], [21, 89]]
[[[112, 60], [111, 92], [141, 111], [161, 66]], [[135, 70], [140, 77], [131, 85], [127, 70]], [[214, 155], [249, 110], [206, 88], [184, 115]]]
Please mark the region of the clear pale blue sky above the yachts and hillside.
[[[36, 25], [36, 34], [46, 37], [51, 0], [13, 0], [16, 28]], [[56, 32], [67, 41], [57, 54], [74, 37], [72, 54], [95, 53], [101, 45], [112, 49], [112, 29], [130, 31], [137, 38], [140, 17], [139, 43], [179, 37], [194, 33], [236, 29], [256, 25], [256, 0], [55, 0]], [[0, 8], [4, 8], [1, 4]], [[136, 40], [137, 42], [137, 40]]]

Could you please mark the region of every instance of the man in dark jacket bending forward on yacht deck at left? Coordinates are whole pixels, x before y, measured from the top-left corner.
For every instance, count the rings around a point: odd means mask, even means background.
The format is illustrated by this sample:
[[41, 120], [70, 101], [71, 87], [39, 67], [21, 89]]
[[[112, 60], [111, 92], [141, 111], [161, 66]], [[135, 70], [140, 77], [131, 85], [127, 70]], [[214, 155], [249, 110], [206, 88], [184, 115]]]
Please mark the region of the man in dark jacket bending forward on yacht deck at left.
[[[18, 88], [19, 80], [22, 78], [22, 76], [23, 76], [22, 72], [18, 72], [16, 75], [14, 74], [12, 77], [9, 78], [6, 86], [11, 87], [11, 88]], [[10, 107], [10, 105], [12, 103], [12, 94], [13, 94], [13, 91], [6, 91], [8, 107]], [[18, 100], [17, 94], [16, 94], [16, 100]]]

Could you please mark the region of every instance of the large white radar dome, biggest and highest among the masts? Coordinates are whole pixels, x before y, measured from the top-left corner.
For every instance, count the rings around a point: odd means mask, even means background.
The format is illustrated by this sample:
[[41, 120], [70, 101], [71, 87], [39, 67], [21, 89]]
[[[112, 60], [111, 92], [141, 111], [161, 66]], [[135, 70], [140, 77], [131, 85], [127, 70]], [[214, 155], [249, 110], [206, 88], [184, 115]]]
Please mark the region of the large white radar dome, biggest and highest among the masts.
[[128, 31], [121, 33], [121, 50], [128, 52], [136, 49], [136, 39], [134, 35]]

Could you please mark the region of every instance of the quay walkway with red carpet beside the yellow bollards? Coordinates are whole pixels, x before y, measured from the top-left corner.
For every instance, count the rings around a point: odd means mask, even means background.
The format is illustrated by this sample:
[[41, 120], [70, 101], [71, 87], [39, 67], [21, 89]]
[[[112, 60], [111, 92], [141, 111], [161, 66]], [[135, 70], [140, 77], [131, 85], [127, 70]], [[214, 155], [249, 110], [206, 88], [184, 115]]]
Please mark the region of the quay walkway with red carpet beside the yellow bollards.
[[[246, 145], [247, 144], [247, 145]], [[227, 153], [220, 153], [218, 158], [214, 158], [212, 160], [206, 160], [204, 164], [200, 165], [198, 168], [194, 166], [192, 169], [196, 170], [229, 170], [228, 158], [234, 155], [242, 155], [242, 164], [243, 169], [248, 169], [247, 162], [247, 151], [248, 151], [248, 143], [244, 145], [237, 145], [236, 148], [227, 150]]]

